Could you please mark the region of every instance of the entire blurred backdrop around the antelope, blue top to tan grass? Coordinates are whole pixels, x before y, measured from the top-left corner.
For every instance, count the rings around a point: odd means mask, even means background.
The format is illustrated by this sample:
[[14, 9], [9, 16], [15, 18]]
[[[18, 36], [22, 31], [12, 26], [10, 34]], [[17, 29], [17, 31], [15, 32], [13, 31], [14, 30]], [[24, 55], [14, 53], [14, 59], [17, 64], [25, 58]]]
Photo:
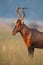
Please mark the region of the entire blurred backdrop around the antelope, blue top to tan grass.
[[0, 0], [0, 65], [43, 65], [43, 49], [35, 49], [31, 58], [21, 35], [12, 35], [16, 7], [29, 8], [24, 23], [43, 32], [43, 0]]

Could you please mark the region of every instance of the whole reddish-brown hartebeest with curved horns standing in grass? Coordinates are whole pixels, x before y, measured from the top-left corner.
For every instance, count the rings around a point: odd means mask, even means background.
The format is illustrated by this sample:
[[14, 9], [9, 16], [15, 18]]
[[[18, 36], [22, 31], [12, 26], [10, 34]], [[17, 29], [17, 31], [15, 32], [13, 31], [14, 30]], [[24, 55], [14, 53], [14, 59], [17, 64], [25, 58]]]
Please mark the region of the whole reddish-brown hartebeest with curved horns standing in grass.
[[16, 9], [19, 19], [16, 22], [12, 34], [15, 35], [17, 32], [20, 32], [28, 48], [29, 54], [33, 55], [34, 48], [43, 48], [43, 33], [39, 32], [37, 29], [27, 27], [22, 21], [25, 17], [24, 8], [22, 8], [22, 16], [18, 10], [19, 8]]

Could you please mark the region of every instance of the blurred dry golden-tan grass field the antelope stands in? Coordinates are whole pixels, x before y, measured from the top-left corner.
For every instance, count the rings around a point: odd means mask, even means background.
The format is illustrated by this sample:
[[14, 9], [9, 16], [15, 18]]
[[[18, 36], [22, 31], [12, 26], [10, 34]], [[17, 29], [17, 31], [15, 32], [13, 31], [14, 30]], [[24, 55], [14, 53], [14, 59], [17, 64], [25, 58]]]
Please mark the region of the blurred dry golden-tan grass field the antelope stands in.
[[11, 30], [0, 26], [0, 65], [43, 65], [43, 49], [35, 49], [31, 58], [21, 35], [13, 36]]

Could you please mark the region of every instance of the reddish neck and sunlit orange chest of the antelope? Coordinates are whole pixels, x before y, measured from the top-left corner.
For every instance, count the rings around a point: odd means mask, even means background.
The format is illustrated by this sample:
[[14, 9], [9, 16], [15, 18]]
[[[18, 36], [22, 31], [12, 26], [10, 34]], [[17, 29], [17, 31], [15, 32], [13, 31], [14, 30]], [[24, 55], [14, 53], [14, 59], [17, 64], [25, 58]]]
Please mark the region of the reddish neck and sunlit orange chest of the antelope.
[[31, 32], [31, 29], [28, 28], [25, 24], [23, 24], [23, 26], [22, 26], [22, 28], [20, 30], [20, 33], [21, 33], [21, 35], [22, 35], [22, 37], [24, 39], [24, 42], [25, 42], [27, 47], [30, 47], [30, 44], [29, 44], [30, 40], [28, 40], [31, 37], [31, 33], [30, 32]]

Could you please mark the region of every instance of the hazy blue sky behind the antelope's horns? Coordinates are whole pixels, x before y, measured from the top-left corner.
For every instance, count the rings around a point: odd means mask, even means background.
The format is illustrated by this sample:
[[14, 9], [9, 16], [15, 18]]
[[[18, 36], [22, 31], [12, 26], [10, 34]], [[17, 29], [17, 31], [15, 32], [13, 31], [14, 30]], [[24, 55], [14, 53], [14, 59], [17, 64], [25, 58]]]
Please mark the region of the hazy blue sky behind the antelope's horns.
[[18, 18], [16, 7], [29, 8], [24, 10], [26, 19], [43, 21], [43, 0], [0, 0], [0, 19]]

